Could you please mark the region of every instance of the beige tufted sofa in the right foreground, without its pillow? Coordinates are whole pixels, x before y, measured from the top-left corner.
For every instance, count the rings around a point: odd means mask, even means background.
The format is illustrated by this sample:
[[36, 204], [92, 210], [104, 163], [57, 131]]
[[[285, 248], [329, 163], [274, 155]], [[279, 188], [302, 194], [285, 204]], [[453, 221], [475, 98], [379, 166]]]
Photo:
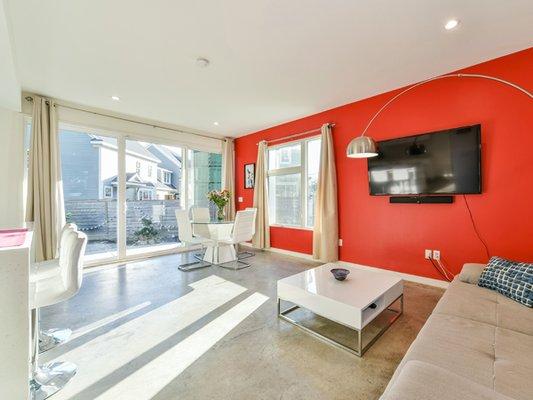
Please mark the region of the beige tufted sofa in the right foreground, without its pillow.
[[381, 400], [533, 400], [533, 309], [477, 286], [484, 267], [450, 283]]

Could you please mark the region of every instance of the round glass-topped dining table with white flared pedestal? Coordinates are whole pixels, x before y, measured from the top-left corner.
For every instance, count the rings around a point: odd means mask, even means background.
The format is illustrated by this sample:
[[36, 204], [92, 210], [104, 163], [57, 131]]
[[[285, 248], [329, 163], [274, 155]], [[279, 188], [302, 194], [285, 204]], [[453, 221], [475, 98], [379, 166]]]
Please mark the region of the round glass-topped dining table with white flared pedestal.
[[233, 245], [219, 243], [219, 240], [231, 237], [233, 221], [191, 221], [191, 224], [194, 236], [212, 240], [212, 243], [206, 246], [204, 261], [223, 264], [237, 260]]

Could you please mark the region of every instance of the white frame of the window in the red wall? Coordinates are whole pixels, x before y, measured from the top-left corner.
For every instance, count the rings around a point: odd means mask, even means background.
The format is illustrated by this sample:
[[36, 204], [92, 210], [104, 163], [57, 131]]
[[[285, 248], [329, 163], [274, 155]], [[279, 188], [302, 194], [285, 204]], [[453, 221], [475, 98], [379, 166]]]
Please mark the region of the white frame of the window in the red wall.
[[[299, 225], [293, 225], [293, 224], [280, 224], [280, 223], [270, 223], [271, 216], [269, 215], [269, 226], [274, 227], [281, 227], [281, 228], [292, 228], [292, 229], [303, 229], [303, 230], [313, 230], [313, 226], [307, 225], [307, 196], [308, 196], [308, 177], [309, 177], [309, 165], [307, 164], [308, 159], [308, 143], [314, 140], [320, 140], [320, 134], [313, 135], [313, 136], [307, 136], [303, 139], [298, 140], [291, 140], [289, 142], [284, 142], [281, 144], [277, 144], [274, 146], [268, 146], [267, 148], [267, 154], [266, 154], [266, 165], [267, 165], [267, 184], [268, 180], [271, 176], [282, 176], [282, 175], [290, 175], [290, 174], [300, 174], [300, 208], [302, 212], [300, 213], [300, 224]], [[284, 168], [276, 168], [276, 169], [269, 169], [268, 166], [269, 163], [269, 157], [270, 157], [270, 150], [279, 150], [283, 149], [284, 147], [290, 147], [294, 146], [295, 144], [299, 144], [300, 146], [300, 165], [297, 167], [284, 167]], [[322, 143], [321, 143], [322, 145]], [[313, 221], [314, 222], [314, 221]]]

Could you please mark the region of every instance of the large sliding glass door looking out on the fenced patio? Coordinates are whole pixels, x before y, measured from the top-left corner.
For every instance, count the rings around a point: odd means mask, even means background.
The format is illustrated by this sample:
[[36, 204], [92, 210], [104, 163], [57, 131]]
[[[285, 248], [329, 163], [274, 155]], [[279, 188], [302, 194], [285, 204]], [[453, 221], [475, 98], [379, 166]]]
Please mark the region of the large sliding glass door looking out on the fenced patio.
[[214, 217], [206, 195], [222, 187], [220, 153], [63, 123], [59, 143], [66, 220], [87, 234], [88, 264], [180, 246], [176, 210]]

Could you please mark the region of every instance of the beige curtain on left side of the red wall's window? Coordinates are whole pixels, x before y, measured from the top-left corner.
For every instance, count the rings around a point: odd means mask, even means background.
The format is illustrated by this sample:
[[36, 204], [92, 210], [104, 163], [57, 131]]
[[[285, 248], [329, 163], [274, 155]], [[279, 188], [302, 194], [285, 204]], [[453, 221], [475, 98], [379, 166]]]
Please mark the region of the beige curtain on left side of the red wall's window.
[[254, 208], [257, 208], [257, 215], [252, 243], [257, 249], [268, 249], [270, 247], [266, 151], [267, 143], [263, 140], [259, 143], [255, 164]]

